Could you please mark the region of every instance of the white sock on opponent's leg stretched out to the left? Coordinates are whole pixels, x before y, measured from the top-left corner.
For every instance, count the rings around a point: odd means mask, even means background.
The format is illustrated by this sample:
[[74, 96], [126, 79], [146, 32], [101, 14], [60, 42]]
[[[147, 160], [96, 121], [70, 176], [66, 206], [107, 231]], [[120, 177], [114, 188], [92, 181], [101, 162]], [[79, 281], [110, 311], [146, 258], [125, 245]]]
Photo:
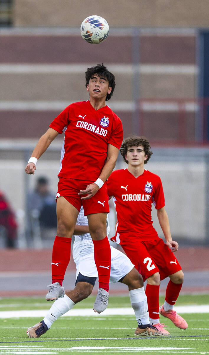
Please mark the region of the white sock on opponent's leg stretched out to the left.
[[50, 328], [57, 318], [71, 310], [74, 306], [75, 303], [68, 296], [64, 295], [64, 297], [58, 298], [58, 300], [56, 300], [51, 306], [46, 317], [44, 317], [44, 323]]

